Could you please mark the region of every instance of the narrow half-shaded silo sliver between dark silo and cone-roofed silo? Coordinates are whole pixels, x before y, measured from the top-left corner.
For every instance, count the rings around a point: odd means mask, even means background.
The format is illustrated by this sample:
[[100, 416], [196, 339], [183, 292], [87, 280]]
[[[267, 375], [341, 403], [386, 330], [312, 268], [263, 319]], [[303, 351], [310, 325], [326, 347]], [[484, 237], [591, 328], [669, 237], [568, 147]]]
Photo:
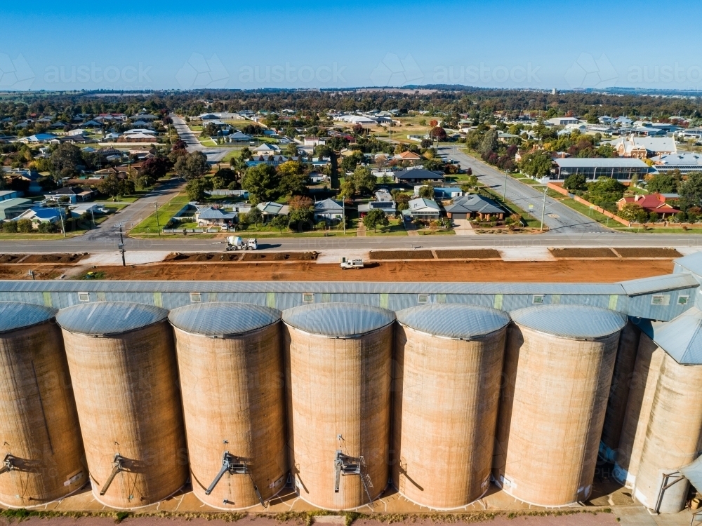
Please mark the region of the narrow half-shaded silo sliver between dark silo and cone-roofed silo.
[[664, 355], [665, 351], [651, 338], [641, 335], [613, 472], [614, 478], [626, 487], [633, 487], [639, 471]]

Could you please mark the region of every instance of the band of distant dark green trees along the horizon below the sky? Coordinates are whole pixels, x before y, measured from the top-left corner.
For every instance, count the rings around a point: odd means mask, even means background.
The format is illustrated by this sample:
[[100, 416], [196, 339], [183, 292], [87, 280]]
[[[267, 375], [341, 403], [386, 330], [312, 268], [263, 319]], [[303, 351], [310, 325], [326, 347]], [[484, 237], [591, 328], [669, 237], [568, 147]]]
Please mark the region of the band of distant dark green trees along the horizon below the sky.
[[[493, 114], [508, 116], [576, 115], [647, 116], [665, 120], [671, 116], [702, 117], [702, 97], [662, 97], [637, 93], [595, 93], [568, 91], [552, 94], [537, 90], [489, 88], [437, 89], [429, 86], [407, 93], [380, 90], [192, 90], [150, 93], [32, 92], [5, 94], [0, 98], [0, 118], [23, 119], [31, 114], [124, 113], [142, 110], [154, 114], [177, 112], [198, 115], [204, 112], [241, 110], [281, 112], [367, 112], [397, 109], [400, 114], [424, 111], [429, 115]], [[423, 90], [423, 91], [420, 91]]]

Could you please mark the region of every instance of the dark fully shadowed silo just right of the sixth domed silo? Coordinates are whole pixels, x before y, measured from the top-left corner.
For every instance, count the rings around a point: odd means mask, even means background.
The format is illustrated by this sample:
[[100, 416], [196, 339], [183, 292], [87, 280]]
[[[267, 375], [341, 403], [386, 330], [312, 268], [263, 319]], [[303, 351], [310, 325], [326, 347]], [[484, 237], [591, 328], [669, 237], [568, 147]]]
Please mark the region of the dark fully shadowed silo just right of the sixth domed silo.
[[616, 460], [616, 449], [619, 447], [621, 427], [624, 424], [624, 414], [629, 399], [640, 335], [639, 328], [629, 321], [619, 336], [619, 346], [616, 351], [616, 360], [614, 360], [614, 373], [609, 388], [607, 412], [604, 413], [600, 442], [600, 456], [608, 462]]

